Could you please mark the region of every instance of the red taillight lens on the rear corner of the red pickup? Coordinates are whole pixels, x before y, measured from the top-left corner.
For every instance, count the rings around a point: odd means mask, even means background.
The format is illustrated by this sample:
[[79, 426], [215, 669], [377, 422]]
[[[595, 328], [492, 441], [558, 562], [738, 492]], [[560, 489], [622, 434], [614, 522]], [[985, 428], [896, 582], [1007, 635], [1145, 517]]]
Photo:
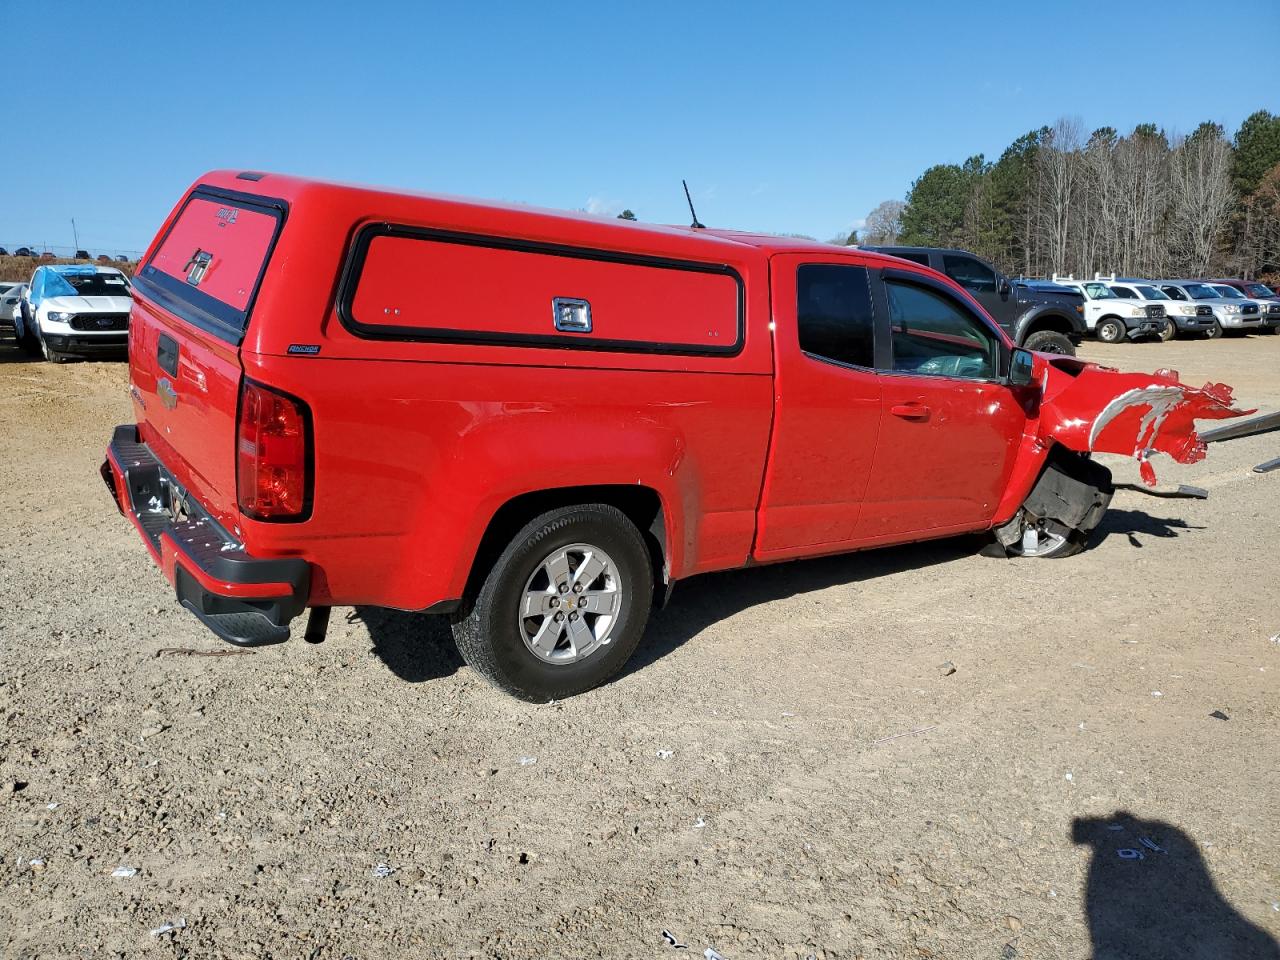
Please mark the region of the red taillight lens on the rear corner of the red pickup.
[[236, 438], [241, 509], [259, 520], [307, 509], [307, 411], [301, 401], [244, 381]]

